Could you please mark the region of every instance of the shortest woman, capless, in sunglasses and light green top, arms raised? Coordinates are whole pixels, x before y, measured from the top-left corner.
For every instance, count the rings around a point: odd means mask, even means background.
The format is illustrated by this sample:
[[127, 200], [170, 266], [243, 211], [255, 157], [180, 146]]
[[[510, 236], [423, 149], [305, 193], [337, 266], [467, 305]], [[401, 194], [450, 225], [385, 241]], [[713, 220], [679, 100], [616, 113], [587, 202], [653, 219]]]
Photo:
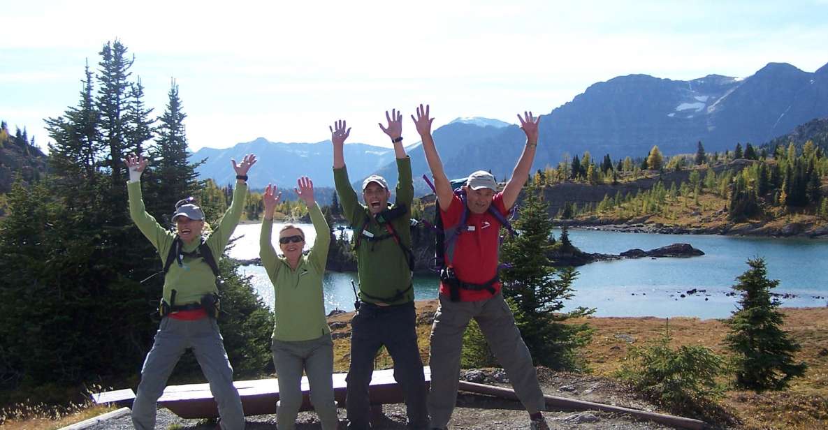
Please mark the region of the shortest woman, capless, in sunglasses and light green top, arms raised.
[[313, 195], [313, 182], [306, 176], [297, 181], [296, 194], [305, 202], [316, 231], [307, 255], [305, 232], [293, 225], [279, 231], [277, 256], [271, 244], [273, 212], [281, 193], [267, 185], [262, 201], [264, 221], [259, 256], [273, 283], [276, 297], [276, 327], [273, 328], [273, 364], [279, 383], [276, 423], [279, 430], [295, 427], [302, 404], [301, 377], [304, 370], [310, 385], [310, 402], [322, 422], [323, 430], [335, 430], [338, 420], [334, 402], [334, 343], [325, 319], [322, 279], [330, 246], [330, 229]]

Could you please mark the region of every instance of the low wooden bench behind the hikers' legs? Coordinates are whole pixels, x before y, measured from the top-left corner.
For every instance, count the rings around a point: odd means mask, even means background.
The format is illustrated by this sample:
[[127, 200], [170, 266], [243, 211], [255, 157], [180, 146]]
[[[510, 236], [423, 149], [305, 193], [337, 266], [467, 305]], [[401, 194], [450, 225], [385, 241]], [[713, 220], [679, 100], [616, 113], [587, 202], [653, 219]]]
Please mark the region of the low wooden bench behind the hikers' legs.
[[[431, 369], [425, 367], [426, 385], [431, 381]], [[344, 373], [335, 373], [334, 398], [339, 404], [345, 402]], [[279, 385], [276, 379], [267, 380], [239, 380], [233, 382], [238, 395], [242, 398], [245, 415], [263, 415], [276, 413], [276, 402], [279, 399]], [[307, 377], [302, 377], [302, 406], [301, 410], [311, 410], [309, 385]], [[371, 383], [368, 385], [368, 395], [371, 404], [403, 403], [402, 389], [394, 380], [394, 370], [374, 370]], [[96, 404], [118, 404], [118, 406], [132, 407], [135, 393], [132, 389], [118, 389], [103, 393], [92, 394]], [[181, 418], [216, 418], [219, 409], [216, 407], [209, 384], [170, 385], [164, 389], [164, 394], [158, 399], [158, 405], [168, 408]]]

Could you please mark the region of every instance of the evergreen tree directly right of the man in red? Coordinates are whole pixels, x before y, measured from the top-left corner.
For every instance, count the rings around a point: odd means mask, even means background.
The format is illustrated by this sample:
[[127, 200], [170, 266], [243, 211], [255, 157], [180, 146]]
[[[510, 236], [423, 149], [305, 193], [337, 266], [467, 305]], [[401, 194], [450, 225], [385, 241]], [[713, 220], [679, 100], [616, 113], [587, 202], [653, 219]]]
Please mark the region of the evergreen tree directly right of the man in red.
[[503, 294], [515, 305], [517, 327], [536, 364], [578, 369], [576, 352], [590, 341], [590, 327], [563, 322], [593, 310], [577, 308], [560, 313], [564, 300], [573, 295], [571, 285], [577, 272], [571, 268], [556, 270], [551, 265], [548, 254], [552, 222], [547, 208], [542, 193], [529, 184], [520, 217], [514, 223], [521, 234], [503, 242], [503, 260], [511, 265], [501, 274]]

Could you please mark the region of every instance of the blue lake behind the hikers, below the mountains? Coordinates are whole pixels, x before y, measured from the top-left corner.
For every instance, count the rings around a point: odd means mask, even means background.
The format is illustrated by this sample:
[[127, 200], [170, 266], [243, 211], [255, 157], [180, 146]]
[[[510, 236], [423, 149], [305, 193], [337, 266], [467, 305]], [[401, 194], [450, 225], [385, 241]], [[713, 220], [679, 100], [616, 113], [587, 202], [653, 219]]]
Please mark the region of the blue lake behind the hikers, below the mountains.
[[[301, 225], [312, 243], [310, 225]], [[274, 231], [278, 232], [277, 226]], [[230, 256], [249, 259], [258, 256], [260, 224], [237, 227], [242, 236]], [[556, 231], [555, 236], [560, 232]], [[274, 234], [275, 236], [275, 234]], [[726, 295], [735, 278], [748, 270], [746, 261], [763, 257], [768, 277], [779, 279], [773, 290], [786, 307], [824, 307], [828, 305], [828, 241], [811, 239], [770, 239], [733, 236], [665, 235], [648, 233], [570, 230], [570, 239], [585, 252], [619, 254], [632, 248], [645, 251], [672, 243], [690, 243], [705, 252], [691, 258], [643, 258], [601, 261], [583, 265], [573, 288], [575, 297], [567, 308], [596, 308], [601, 317], [698, 317], [724, 318], [736, 307], [737, 297]], [[248, 265], [239, 269], [252, 276], [254, 287], [269, 306], [273, 287], [264, 269]], [[329, 272], [325, 275], [325, 308], [352, 310], [354, 293], [350, 281], [355, 273]], [[687, 291], [696, 289], [696, 294]], [[436, 276], [418, 276], [414, 282], [416, 299], [435, 299]], [[685, 297], [681, 297], [684, 294]]]

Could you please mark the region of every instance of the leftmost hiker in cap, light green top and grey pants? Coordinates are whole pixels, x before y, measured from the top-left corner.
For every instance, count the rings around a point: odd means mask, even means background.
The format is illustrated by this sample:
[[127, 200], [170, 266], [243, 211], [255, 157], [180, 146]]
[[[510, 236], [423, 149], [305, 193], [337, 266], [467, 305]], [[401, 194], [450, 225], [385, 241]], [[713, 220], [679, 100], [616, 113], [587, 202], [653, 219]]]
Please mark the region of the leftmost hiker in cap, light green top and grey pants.
[[132, 424], [142, 430], [155, 428], [156, 402], [166, 380], [184, 351], [192, 348], [219, 406], [220, 427], [241, 430], [242, 401], [233, 386], [233, 367], [215, 319], [219, 301], [217, 262], [241, 218], [248, 192], [248, 170], [256, 164], [256, 155], [245, 155], [240, 165], [232, 160], [237, 178], [233, 203], [219, 226], [204, 237], [204, 212], [191, 199], [176, 204], [172, 216], [175, 232], [161, 227], [147, 213], [142, 200], [141, 174], [147, 168], [147, 160], [130, 155], [125, 161], [129, 167], [129, 215], [164, 262], [161, 324], [141, 370], [141, 383], [132, 404]]

